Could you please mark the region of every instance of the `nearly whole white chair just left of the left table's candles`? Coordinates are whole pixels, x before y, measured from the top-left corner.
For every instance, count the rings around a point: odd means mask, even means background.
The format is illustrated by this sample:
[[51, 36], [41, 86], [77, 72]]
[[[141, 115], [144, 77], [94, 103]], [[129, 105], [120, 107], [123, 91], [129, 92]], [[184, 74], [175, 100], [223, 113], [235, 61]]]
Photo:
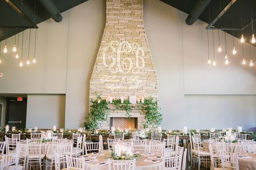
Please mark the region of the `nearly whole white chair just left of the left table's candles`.
[[44, 157], [45, 154], [42, 154], [42, 139], [26, 139], [26, 144], [28, 145], [28, 157], [26, 161], [26, 168], [35, 166], [40, 167], [44, 166]]

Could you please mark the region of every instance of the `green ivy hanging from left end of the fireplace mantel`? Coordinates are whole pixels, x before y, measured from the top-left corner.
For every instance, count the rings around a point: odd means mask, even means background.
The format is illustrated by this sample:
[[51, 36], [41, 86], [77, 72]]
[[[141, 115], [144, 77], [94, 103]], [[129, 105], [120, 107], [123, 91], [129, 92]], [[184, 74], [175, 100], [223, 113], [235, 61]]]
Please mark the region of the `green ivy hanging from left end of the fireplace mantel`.
[[97, 129], [99, 121], [106, 121], [110, 109], [107, 106], [109, 102], [102, 100], [100, 95], [97, 95], [97, 100], [90, 100], [90, 110], [88, 116], [85, 118], [84, 126], [86, 129]]

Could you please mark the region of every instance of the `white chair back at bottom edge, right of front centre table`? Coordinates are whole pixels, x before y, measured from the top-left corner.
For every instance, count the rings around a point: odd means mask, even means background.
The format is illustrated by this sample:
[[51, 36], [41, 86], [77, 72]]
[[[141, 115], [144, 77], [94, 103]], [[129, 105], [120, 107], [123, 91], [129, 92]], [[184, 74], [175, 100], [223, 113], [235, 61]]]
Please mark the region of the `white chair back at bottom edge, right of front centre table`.
[[180, 170], [182, 164], [181, 155], [175, 155], [173, 157], [164, 157], [163, 158], [164, 169]]

